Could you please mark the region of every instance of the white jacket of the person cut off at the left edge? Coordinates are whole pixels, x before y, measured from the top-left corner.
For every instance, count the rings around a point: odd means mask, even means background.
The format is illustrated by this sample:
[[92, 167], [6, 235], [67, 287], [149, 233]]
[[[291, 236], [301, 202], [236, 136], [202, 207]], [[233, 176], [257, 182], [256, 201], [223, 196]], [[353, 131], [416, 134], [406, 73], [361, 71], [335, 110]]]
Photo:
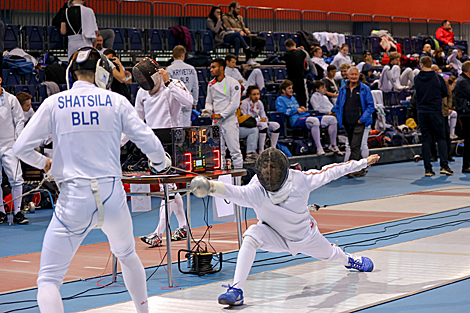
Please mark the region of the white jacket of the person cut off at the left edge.
[[0, 95], [0, 152], [11, 148], [24, 128], [24, 113], [15, 96], [2, 88]]

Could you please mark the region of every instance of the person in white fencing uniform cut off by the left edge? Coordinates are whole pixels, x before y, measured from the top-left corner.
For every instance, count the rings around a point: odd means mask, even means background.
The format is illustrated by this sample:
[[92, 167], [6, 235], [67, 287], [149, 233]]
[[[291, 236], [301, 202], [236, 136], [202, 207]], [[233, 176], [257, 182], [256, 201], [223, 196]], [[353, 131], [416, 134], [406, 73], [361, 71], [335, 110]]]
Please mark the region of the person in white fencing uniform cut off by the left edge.
[[[0, 83], [2, 79], [0, 78]], [[13, 144], [24, 128], [24, 113], [16, 97], [5, 89], [0, 89], [0, 181], [2, 167], [8, 176], [12, 188], [14, 216], [13, 222], [27, 224], [29, 220], [21, 213], [21, 195], [23, 194], [23, 172], [18, 158], [13, 153]], [[0, 224], [8, 222], [3, 206], [3, 192], [0, 188]]]

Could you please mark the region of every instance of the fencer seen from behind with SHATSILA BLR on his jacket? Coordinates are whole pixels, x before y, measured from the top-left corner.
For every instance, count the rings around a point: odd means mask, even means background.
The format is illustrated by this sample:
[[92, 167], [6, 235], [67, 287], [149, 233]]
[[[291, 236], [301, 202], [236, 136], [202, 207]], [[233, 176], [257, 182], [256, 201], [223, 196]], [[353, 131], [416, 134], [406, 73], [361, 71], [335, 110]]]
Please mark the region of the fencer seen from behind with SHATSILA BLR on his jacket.
[[[132, 220], [121, 183], [119, 141], [124, 133], [155, 170], [171, 165], [163, 146], [129, 101], [106, 90], [112, 78], [106, 57], [80, 49], [69, 66], [71, 90], [47, 98], [13, 146], [36, 168], [50, 169], [60, 187], [44, 236], [38, 277], [41, 312], [64, 312], [59, 292], [80, 243], [95, 227], [108, 237], [137, 312], [148, 312], [145, 271], [135, 253]], [[100, 87], [100, 88], [98, 88]], [[53, 159], [34, 150], [52, 133]]]

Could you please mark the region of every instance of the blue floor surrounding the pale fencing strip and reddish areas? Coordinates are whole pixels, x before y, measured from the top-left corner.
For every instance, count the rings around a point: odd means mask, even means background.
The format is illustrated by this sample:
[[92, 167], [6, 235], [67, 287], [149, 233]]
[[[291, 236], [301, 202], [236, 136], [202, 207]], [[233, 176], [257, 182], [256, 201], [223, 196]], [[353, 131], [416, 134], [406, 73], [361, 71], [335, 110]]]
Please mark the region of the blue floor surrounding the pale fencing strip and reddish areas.
[[[426, 190], [431, 188], [447, 187], [450, 185], [464, 185], [469, 186], [470, 176], [464, 176], [460, 174], [461, 159], [458, 158], [457, 162], [452, 163], [451, 167], [454, 169], [456, 174], [452, 177], [440, 176], [439, 174], [432, 178], [424, 178], [424, 169], [422, 162], [420, 163], [398, 163], [376, 166], [369, 169], [369, 174], [364, 178], [358, 179], [346, 179], [341, 178], [335, 182], [332, 182], [321, 189], [316, 190], [310, 196], [310, 203], [316, 204], [327, 204], [334, 205], [340, 203], [347, 203], [353, 201], [368, 200], [374, 198], [380, 198], [385, 196], [392, 196], [397, 194], [415, 192], [420, 190]], [[203, 226], [203, 207], [202, 202], [199, 199], [192, 198], [192, 223], [193, 227]], [[198, 202], [199, 201], [199, 202]], [[158, 200], [155, 204], [158, 204]], [[210, 206], [211, 207], [211, 206]], [[326, 208], [327, 209], [327, 208]], [[325, 209], [325, 210], [326, 210]], [[448, 232], [454, 229], [468, 227], [469, 223], [466, 224], [453, 224], [452, 226], [445, 228], [436, 228], [421, 230], [419, 232], [408, 233], [410, 229], [426, 228], [433, 225], [442, 224], [445, 222], [452, 222], [456, 220], [470, 219], [470, 213], [467, 213], [469, 208], [458, 209], [452, 212], [443, 212], [434, 214], [422, 218], [412, 218], [407, 221], [400, 221], [394, 223], [385, 223], [380, 225], [374, 225], [370, 227], [363, 227], [353, 231], [345, 231], [334, 233], [326, 236], [333, 243], [340, 246], [345, 246], [357, 241], [367, 241], [363, 244], [370, 246], [349, 246], [346, 248], [347, 252], [355, 252], [359, 250], [365, 250], [370, 248], [377, 248], [384, 245], [390, 245], [393, 243], [413, 240], [426, 236], [431, 236], [443, 232]], [[460, 213], [457, 215], [457, 213]], [[48, 220], [51, 216], [50, 211], [37, 211], [34, 214], [29, 214], [28, 217], [31, 219], [31, 225], [8, 227], [1, 225], [0, 236], [2, 238], [8, 238], [0, 243], [0, 256], [16, 255], [22, 253], [38, 252], [40, 251], [42, 237], [44, 235], [45, 228], [47, 227]], [[434, 219], [438, 217], [439, 219]], [[248, 210], [248, 218], [254, 218], [252, 210]], [[139, 215], [134, 218], [134, 234], [136, 236], [144, 235], [149, 233], [155, 228], [156, 221], [158, 219], [158, 212], [153, 211], [144, 215]], [[212, 221], [212, 209], [209, 209], [209, 221]], [[172, 228], [176, 227], [176, 220], [172, 221]], [[408, 224], [405, 224], [409, 222]], [[214, 224], [213, 222], [211, 222]], [[396, 226], [395, 226], [396, 225]], [[384, 231], [384, 226], [388, 227]], [[375, 243], [377, 238], [385, 235], [393, 235], [398, 232], [404, 232], [404, 234], [390, 238], [388, 240], [382, 240]], [[369, 234], [371, 232], [378, 232]], [[343, 236], [344, 235], [344, 236]], [[338, 237], [343, 236], [343, 237]], [[393, 237], [393, 236], [391, 236]], [[92, 231], [84, 244], [91, 244], [105, 241], [104, 235], [100, 231]], [[372, 245], [373, 244], [373, 245]], [[237, 253], [229, 253], [224, 255], [224, 259], [228, 259], [231, 262], [236, 260]], [[311, 258], [306, 258], [302, 255], [298, 255], [293, 258], [292, 256], [273, 254], [273, 253], [258, 253], [257, 260], [265, 260], [271, 257], [278, 257], [276, 260], [269, 260], [264, 262], [255, 263], [256, 267], [253, 267], [251, 274], [259, 273], [263, 271], [269, 271], [277, 268], [286, 266], [292, 266], [295, 264], [301, 264], [312, 261]], [[290, 261], [292, 260], [292, 261]], [[287, 262], [286, 262], [287, 261]], [[280, 263], [279, 262], [286, 262]], [[278, 264], [272, 264], [278, 263]], [[271, 265], [268, 265], [271, 264]], [[234, 263], [224, 262], [223, 270], [220, 273], [206, 275], [203, 277], [197, 277], [193, 275], [180, 274], [177, 266], [173, 265], [173, 273], [175, 282], [183, 288], [197, 286], [221, 280], [232, 278], [234, 271]], [[147, 277], [155, 270], [155, 268], [147, 269]], [[104, 283], [109, 282], [110, 278], [104, 280]], [[89, 288], [96, 287], [97, 279], [91, 281], [79, 281], [73, 283], [64, 284], [61, 288], [61, 294], [63, 297], [69, 297], [79, 292], [85, 291]], [[103, 282], [102, 282], [103, 283]], [[117, 282], [118, 285], [122, 285], [122, 279]], [[363, 311], [374, 312], [437, 312], [440, 308], [440, 312], [464, 312], [463, 307], [469, 306], [468, 301], [462, 297], [464, 292], [461, 288], [469, 287], [468, 281], [463, 281], [455, 284], [451, 284], [446, 287], [441, 287], [432, 291], [424, 292], [415, 296], [404, 298], [401, 300], [393, 301], [381, 306], [370, 308]], [[158, 269], [154, 276], [148, 281], [149, 295], [160, 294], [167, 292], [162, 287], [167, 286], [166, 272], [163, 268]], [[452, 291], [452, 288], [455, 291]], [[100, 294], [100, 293], [114, 293], [123, 291], [122, 287], [106, 287], [99, 290], [93, 290], [87, 292], [85, 295]], [[440, 290], [440, 291], [439, 291]], [[460, 290], [460, 291], [459, 291]], [[222, 291], [222, 289], [221, 289]], [[19, 303], [25, 299], [35, 299], [37, 290], [29, 290], [24, 292], [17, 292], [13, 294], [7, 294], [0, 296], [0, 312], [7, 312], [8, 310], [20, 309], [23, 307], [33, 306], [35, 302]], [[438, 297], [433, 295], [434, 293], [445, 294], [446, 297]], [[214, 299], [217, 295], [214, 295]], [[86, 299], [86, 301], [84, 301]], [[77, 310], [84, 310], [88, 308], [94, 308], [98, 306], [104, 306], [122, 301], [128, 301], [130, 297], [127, 292], [123, 292], [116, 295], [106, 296], [93, 296], [86, 298], [78, 298], [74, 300], [66, 300], [65, 308], [67, 312], [74, 312]], [[411, 302], [410, 302], [411, 301]], [[6, 305], [6, 302], [15, 302], [11, 305]], [[430, 311], [428, 306], [433, 306], [436, 311]], [[421, 311], [420, 311], [421, 310]], [[21, 310], [21, 312], [37, 312], [37, 307], [29, 310]]]

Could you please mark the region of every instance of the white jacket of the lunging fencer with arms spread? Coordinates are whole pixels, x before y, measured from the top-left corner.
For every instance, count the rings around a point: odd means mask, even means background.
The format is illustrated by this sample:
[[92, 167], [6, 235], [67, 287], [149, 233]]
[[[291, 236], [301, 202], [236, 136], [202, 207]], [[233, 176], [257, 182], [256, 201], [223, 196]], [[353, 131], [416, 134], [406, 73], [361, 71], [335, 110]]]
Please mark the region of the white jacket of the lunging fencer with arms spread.
[[258, 220], [268, 224], [283, 238], [294, 242], [302, 241], [311, 229], [312, 218], [307, 208], [310, 193], [330, 181], [365, 167], [367, 160], [362, 159], [326, 165], [321, 170], [291, 170], [292, 191], [287, 199], [279, 204], [273, 204], [257, 176], [254, 176], [248, 185], [225, 185], [223, 194], [216, 192], [212, 195], [243, 207], [253, 208]]

